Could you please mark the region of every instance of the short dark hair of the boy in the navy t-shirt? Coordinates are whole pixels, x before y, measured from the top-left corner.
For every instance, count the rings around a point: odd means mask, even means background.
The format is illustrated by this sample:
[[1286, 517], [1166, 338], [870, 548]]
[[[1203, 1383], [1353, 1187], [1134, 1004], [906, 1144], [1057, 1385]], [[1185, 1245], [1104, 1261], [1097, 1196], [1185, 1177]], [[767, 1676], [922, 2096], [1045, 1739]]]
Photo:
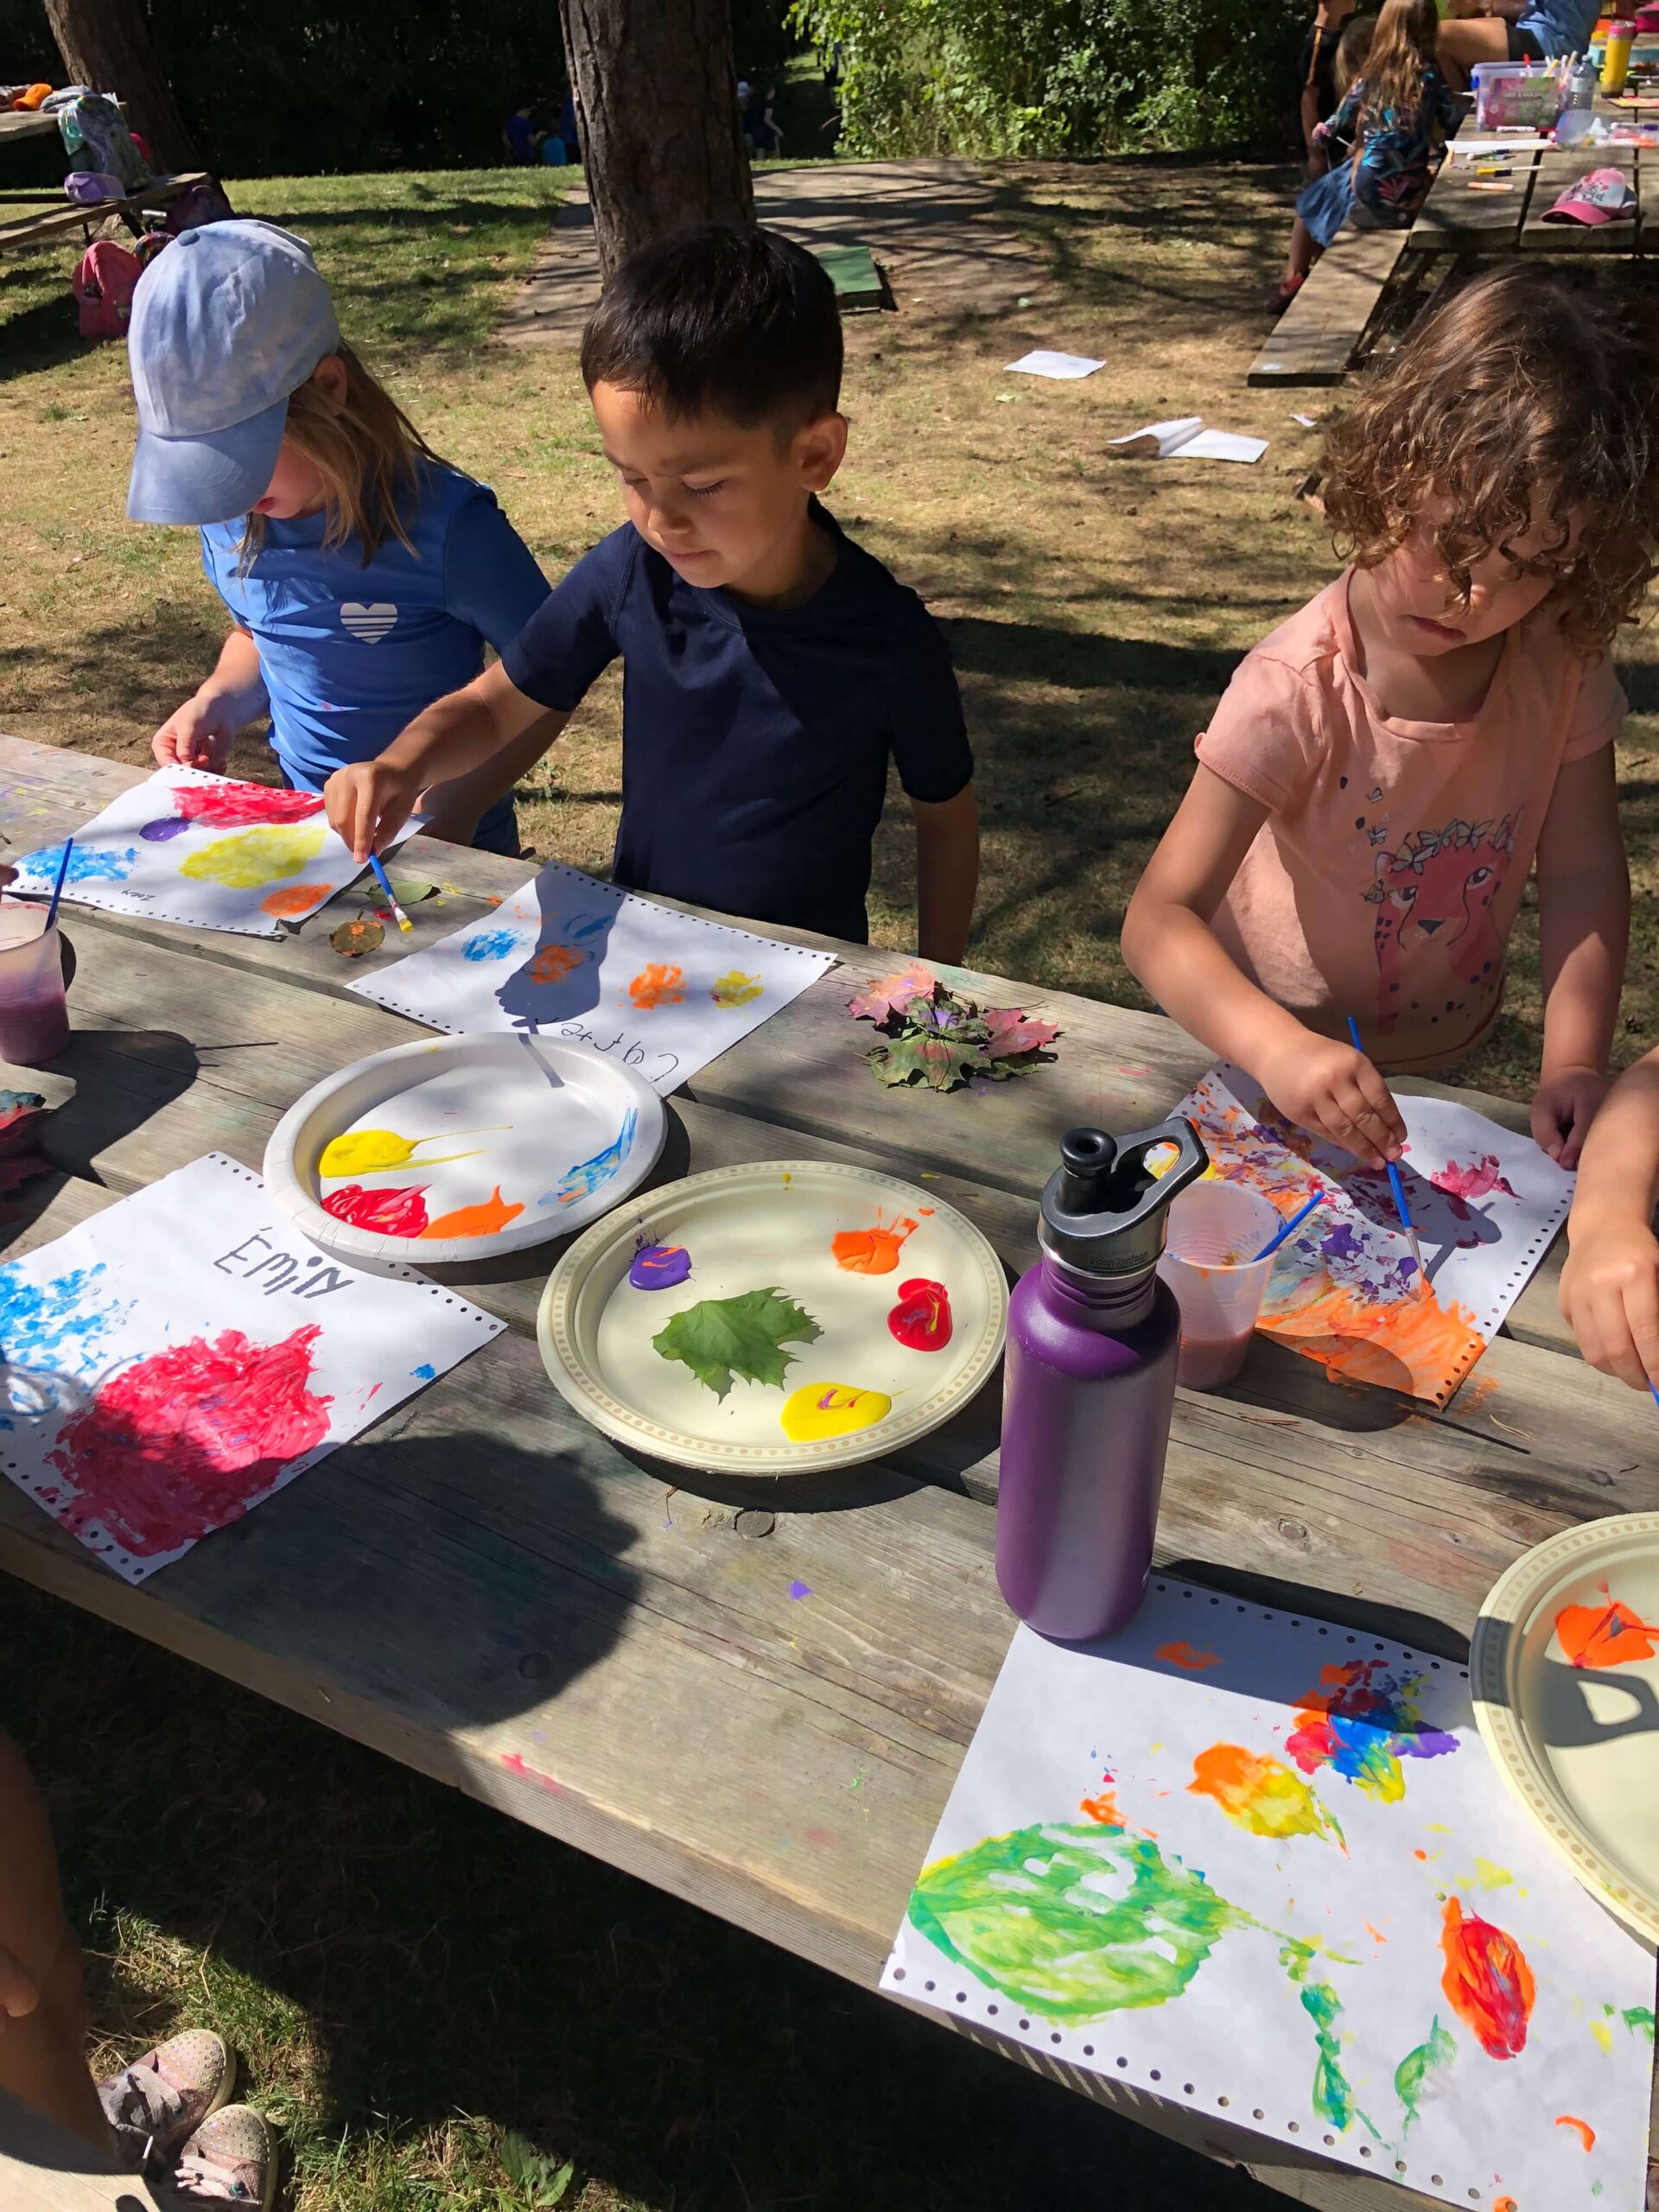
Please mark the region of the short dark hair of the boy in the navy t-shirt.
[[582, 378], [666, 416], [794, 434], [841, 398], [836, 288], [776, 230], [695, 223], [628, 254], [582, 332]]

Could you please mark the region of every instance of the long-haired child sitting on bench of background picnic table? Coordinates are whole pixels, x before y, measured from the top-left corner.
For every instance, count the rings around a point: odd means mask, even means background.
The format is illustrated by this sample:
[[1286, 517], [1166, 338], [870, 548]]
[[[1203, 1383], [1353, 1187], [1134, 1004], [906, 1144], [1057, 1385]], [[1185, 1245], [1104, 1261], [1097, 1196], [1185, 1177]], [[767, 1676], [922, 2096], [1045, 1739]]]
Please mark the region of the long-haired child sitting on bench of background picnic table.
[[1383, 0], [1365, 75], [1314, 131], [1314, 150], [1329, 168], [1296, 195], [1292, 294], [1349, 210], [1365, 230], [1405, 230], [1422, 206], [1429, 164], [1462, 122], [1462, 104], [1436, 66], [1438, 35], [1436, 0]]

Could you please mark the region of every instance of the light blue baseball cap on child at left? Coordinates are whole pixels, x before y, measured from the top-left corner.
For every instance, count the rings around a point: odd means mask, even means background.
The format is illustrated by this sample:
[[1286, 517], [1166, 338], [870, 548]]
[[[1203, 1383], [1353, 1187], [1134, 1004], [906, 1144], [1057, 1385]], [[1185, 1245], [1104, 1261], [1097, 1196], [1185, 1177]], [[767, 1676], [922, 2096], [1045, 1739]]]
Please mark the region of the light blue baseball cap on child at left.
[[126, 330], [139, 411], [128, 515], [246, 515], [276, 467], [288, 396], [338, 343], [305, 239], [246, 221], [177, 237], [144, 270]]

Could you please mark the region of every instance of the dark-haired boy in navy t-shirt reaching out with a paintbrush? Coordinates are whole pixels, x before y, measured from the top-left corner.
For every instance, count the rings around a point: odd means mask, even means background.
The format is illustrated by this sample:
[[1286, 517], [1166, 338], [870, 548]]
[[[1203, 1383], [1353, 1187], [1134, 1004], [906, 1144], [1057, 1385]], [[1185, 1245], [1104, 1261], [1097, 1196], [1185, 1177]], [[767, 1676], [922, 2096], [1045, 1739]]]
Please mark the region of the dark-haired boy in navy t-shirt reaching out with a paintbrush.
[[918, 949], [960, 960], [980, 841], [945, 639], [818, 504], [847, 449], [830, 279], [774, 232], [681, 230], [615, 274], [582, 376], [628, 522], [495, 668], [330, 776], [330, 821], [365, 858], [622, 655], [617, 883], [863, 942], [891, 759]]

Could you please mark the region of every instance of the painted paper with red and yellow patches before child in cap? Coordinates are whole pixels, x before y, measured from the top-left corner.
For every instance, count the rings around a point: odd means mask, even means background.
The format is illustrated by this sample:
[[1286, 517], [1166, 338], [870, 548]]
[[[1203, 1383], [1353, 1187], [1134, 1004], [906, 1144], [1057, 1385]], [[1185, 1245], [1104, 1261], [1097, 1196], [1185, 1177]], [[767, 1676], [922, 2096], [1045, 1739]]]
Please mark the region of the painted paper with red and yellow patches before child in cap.
[[[51, 891], [62, 856], [62, 843], [24, 854], [13, 889]], [[361, 874], [314, 792], [157, 768], [75, 832], [64, 898], [274, 938]]]

